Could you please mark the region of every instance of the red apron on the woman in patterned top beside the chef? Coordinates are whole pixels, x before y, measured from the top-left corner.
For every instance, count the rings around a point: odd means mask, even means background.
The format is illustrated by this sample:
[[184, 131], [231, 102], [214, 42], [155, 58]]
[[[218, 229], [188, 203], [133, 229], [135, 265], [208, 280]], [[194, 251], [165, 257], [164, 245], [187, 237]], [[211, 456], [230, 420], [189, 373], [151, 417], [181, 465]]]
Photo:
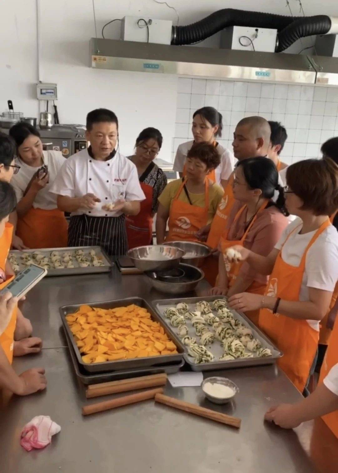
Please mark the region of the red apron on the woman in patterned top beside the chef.
[[145, 200], [140, 204], [140, 213], [125, 217], [129, 249], [151, 245], [152, 241], [152, 187], [143, 182], [140, 185], [145, 195]]

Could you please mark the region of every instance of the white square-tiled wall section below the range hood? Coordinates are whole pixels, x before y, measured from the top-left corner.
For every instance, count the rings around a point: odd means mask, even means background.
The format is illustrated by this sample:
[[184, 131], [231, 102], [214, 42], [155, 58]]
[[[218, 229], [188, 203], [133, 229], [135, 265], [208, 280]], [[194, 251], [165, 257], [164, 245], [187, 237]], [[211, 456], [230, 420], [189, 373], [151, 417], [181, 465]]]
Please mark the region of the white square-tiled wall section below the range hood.
[[338, 88], [179, 78], [172, 159], [178, 145], [192, 139], [192, 115], [205, 105], [223, 115], [218, 141], [229, 149], [241, 118], [261, 115], [281, 122], [288, 134], [281, 156], [288, 164], [320, 157], [320, 145], [338, 136]]

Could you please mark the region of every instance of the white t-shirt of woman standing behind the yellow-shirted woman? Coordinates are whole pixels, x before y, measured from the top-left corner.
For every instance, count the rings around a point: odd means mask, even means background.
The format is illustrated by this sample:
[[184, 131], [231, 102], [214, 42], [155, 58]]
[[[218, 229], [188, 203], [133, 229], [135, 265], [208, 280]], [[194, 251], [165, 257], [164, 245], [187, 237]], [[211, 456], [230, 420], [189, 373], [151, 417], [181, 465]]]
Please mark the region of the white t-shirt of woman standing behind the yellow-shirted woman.
[[[173, 166], [174, 171], [177, 171], [179, 173], [183, 172], [184, 165], [186, 164], [188, 151], [193, 146], [193, 144], [194, 141], [187, 141], [186, 143], [182, 143], [178, 146]], [[216, 184], [221, 184], [221, 179], [229, 179], [229, 176], [233, 171], [235, 158], [231, 151], [229, 151], [229, 149], [223, 148], [222, 145], [220, 145], [219, 143], [217, 144], [216, 149], [221, 157], [221, 164], [215, 169]]]

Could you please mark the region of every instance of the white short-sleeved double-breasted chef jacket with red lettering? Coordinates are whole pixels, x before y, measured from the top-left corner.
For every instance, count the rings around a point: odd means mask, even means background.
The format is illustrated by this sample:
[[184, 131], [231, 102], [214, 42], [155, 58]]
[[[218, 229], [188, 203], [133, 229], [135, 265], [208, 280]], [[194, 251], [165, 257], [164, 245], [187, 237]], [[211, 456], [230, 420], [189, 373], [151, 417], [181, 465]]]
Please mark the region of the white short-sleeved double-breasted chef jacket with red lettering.
[[101, 200], [96, 204], [96, 208], [79, 209], [71, 213], [91, 217], [117, 217], [122, 214], [121, 211], [102, 210], [105, 203], [114, 203], [118, 199], [145, 199], [136, 166], [130, 159], [117, 152], [107, 161], [98, 161], [89, 156], [87, 149], [82, 149], [66, 159], [50, 192], [68, 197], [82, 197], [88, 193], [96, 195]]

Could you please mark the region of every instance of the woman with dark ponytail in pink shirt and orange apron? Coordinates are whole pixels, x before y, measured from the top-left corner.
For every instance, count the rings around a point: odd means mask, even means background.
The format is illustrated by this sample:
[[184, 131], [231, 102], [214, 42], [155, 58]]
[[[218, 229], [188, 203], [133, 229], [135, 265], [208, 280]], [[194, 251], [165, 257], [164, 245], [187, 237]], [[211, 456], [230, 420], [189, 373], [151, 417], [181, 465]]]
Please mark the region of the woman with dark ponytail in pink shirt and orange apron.
[[[278, 184], [278, 171], [271, 159], [249, 158], [239, 161], [234, 172], [232, 192], [235, 198], [225, 233], [220, 241], [219, 273], [212, 295], [247, 291], [263, 295], [267, 276], [250, 268], [246, 262], [230, 262], [229, 248], [240, 245], [267, 256], [288, 224], [283, 188]], [[272, 201], [275, 190], [279, 193]], [[258, 310], [246, 313], [258, 325]]]

